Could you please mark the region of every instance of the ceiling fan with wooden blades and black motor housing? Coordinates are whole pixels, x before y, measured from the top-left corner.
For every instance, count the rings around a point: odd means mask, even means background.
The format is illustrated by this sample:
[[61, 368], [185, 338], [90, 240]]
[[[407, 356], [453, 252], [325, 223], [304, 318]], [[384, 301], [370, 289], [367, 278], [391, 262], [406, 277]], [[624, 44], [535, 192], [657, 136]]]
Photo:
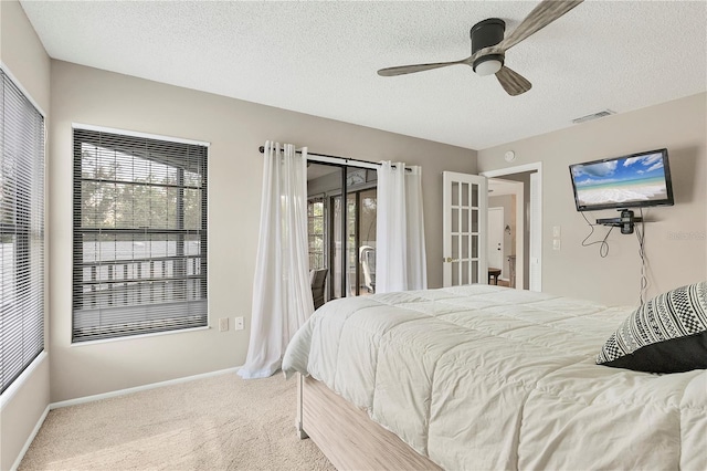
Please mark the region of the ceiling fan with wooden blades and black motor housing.
[[490, 18], [479, 21], [472, 27], [471, 56], [453, 62], [435, 62], [431, 64], [381, 69], [378, 71], [378, 75], [403, 75], [446, 67], [449, 65], [465, 64], [472, 66], [478, 75], [496, 74], [496, 78], [498, 78], [500, 86], [504, 87], [506, 93], [511, 96], [520, 95], [529, 91], [532, 85], [523, 75], [504, 65], [506, 51], [562, 17], [582, 1], [583, 0], [542, 0], [507, 38], [504, 38], [506, 23], [503, 20]]

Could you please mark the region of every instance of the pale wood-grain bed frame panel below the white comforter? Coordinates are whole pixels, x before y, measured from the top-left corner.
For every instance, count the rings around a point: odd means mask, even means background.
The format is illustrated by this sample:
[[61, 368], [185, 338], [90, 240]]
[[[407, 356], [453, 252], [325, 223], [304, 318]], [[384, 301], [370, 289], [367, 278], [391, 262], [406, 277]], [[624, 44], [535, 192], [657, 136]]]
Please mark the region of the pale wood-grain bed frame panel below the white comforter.
[[297, 432], [338, 470], [441, 470], [323, 383], [297, 374]]

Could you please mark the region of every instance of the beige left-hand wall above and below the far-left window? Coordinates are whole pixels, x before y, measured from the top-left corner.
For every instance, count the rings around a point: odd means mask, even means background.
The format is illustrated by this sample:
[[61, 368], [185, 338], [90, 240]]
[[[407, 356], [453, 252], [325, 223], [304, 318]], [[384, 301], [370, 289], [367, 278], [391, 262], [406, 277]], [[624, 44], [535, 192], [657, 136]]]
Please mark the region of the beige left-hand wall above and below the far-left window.
[[[0, 61], [32, 101], [45, 113], [49, 128], [50, 67], [49, 55], [34, 33], [22, 7], [17, 1], [0, 1]], [[45, 333], [49, 312], [44, 316]], [[45, 345], [49, 345], [45, 335]], [[32, 369], [27, 378], [13, 385], [19, 389], [2, 399], [0, 410], [0, 470], [8, 470], [19, 457], [43, 412], [49, 406], [49, 358]], [[8, 390], [10, 391], [10, 390]], [[6, 395], [8, 394], [6, 391]]]

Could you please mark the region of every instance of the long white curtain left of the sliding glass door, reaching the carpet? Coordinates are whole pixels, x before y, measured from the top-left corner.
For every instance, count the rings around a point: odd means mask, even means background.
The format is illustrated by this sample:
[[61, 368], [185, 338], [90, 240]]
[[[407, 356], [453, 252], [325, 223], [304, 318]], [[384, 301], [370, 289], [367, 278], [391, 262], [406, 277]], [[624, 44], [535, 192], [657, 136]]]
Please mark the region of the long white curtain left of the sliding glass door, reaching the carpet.
[[287, 343], [314, 312], [307, 248], [307, 149], [265, 143], [251, 342], [243, 378], [279, 369]]

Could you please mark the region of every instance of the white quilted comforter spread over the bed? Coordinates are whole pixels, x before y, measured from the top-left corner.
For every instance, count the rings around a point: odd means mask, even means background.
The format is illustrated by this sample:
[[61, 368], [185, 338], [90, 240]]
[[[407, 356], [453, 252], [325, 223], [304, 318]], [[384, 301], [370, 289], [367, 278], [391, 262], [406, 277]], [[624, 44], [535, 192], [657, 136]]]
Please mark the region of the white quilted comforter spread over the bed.
[[447, 470], [707, 470], [707, 370], [594, 364], [630, 312], [487, 285], [338, 300], [283, 370]]

